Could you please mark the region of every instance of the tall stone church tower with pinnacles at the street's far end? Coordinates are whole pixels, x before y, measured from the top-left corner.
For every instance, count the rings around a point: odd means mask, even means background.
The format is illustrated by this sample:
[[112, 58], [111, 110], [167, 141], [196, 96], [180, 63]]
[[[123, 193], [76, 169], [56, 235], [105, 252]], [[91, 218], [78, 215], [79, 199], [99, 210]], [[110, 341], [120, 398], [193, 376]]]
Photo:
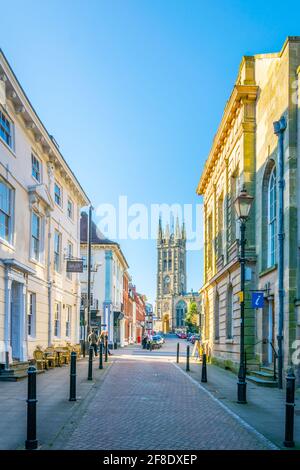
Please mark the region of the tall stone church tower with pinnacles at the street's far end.
[[161, 218], [157, 236], [157, 294], [156, 314], [164, 332], [176, 325], [175, 300], [186, 294], [186, 233], [184, 223], [163, 230]]

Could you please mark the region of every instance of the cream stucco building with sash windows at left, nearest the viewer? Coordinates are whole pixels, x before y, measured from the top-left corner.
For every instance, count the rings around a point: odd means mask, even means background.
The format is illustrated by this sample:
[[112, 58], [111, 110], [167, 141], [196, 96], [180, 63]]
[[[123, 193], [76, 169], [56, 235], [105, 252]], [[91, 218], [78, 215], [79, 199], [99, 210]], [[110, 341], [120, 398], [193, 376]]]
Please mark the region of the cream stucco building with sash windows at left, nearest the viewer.
[[79, 340], [80, 209], [89, 200], [0, 51], [0, 363]]

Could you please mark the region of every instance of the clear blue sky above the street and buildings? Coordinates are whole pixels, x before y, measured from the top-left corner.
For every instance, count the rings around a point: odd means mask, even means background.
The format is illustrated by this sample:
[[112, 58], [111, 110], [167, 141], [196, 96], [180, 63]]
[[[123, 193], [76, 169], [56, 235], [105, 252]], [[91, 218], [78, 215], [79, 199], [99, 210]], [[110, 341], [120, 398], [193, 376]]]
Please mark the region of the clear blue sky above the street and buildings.
[[[0, 47], [95, 206], [197, 203], [242, 56], [280, 50], [299, 17], [299, 1], [11, 0]], [[155, 242], [122, 247], [154, 300]]]

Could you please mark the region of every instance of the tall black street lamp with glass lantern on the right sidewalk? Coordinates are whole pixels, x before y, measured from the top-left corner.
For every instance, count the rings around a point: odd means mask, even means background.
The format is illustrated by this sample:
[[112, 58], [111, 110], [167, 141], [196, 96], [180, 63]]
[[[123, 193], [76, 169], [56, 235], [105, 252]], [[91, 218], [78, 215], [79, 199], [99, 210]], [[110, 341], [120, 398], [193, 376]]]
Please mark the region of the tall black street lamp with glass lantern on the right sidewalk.
[[248, 220], [250, 209], [254, 197], [250, 196], [246, 188], [243, 187], [239, 196], [234, 201], [235, 211], [240, 221], [240, 265], [241, 265], [241, 294], [240, 294], [240, 311], [241, 311], [241, 332], [240, 332], [240, 367], [237, 383], [238, 403], [247, 403], [246, 398], [246, 364], [245, 364], [245, 245], [246, 245], [246, 221]]

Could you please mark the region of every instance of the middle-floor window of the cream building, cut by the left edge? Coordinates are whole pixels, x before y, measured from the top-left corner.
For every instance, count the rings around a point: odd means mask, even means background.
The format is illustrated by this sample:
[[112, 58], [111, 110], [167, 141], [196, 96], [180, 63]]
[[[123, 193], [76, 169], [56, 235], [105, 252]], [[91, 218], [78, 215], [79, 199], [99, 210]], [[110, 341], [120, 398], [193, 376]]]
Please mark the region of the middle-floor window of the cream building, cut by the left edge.
[[12, 243], [13, 190], [0, 178], [0, 238]]

